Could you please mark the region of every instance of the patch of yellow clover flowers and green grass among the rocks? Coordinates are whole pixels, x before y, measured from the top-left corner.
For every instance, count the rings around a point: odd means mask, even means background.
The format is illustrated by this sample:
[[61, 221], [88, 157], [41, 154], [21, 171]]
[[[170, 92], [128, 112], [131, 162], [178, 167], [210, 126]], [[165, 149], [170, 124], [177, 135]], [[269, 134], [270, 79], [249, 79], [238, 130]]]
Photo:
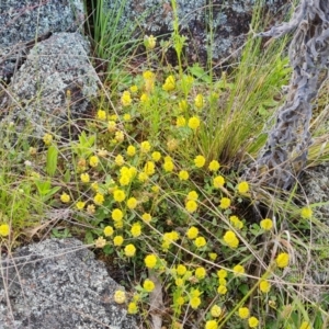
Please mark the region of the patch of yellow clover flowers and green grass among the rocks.
[[[261, 29], [260, 20], [253, 29]], [[175, 25], [178, 58], [182, 42]], [[177, 69], [147, 60], [137, 73], [122, 67], [121, 89], [103, 84], [77, 140], [60, 145], [47, 135], [33, 152], [39, 163], [33, 175], [54, 192], [44, 204], [70, 211], [72, 219], [60, 226], [102, 259], [126, 265], [124, 305], [141, 328], [152, 321], [206, 329], [328, 325], [328, 284], [310, 277], [328, 261], [326, 242], [310, 241], [328, 232], [316, 205], [297, 185], [275, 198], [264, 188], [260, 196], [259, 186], [241, 178], [283, 101], [286, 43], [263, 48], [251, 34], [237, 67], [219, 78], [182, 58]], [[100, 44], [99, 56], [106, 57], [110, 46]], [[161, 54], [154, 36], [145, 37], [145, 47], [150, 57]], [[47, 157], [56, 158], [56, 168]], [[29, 177], [23, 171], [20, 180]], [[271, 213], [258, 207], [264, 195]], [[24, 230], [11, 223], [10, 231]]]

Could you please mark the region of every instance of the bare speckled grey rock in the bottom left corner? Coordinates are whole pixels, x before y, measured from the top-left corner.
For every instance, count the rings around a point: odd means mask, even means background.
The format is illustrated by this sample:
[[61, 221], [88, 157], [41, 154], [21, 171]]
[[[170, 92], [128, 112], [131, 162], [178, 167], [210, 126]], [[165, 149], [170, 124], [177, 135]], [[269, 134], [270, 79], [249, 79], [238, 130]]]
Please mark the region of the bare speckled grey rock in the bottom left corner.
[[48, 239], [1, 260], [1, 329], [133, 329], [123, 290], [77, 239]]

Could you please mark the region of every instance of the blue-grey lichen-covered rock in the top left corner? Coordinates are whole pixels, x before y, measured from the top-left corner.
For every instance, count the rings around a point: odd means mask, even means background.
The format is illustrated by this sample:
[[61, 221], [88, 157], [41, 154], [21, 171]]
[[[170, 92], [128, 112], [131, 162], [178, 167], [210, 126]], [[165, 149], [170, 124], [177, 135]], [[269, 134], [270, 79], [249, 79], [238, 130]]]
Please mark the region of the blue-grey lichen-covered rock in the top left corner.
[[35, 41], [55, 32], [76, 32], [83, 21], [81, 0], [1, 0], [0, 81], [10, 81]]

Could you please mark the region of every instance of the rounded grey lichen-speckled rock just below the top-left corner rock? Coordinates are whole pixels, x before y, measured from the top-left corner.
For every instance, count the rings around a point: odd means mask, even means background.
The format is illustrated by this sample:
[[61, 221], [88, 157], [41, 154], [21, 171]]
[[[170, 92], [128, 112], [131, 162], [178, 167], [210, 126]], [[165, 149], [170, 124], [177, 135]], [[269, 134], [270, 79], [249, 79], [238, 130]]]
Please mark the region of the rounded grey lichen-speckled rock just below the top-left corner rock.
[[97, 95], [89, 50], [79, 33], [55, 33], [36, 44], [7, 88], [11, 97], [5, 120], [37, 138], [45, 132], [67, 134], [71, 121], [88, 113]]

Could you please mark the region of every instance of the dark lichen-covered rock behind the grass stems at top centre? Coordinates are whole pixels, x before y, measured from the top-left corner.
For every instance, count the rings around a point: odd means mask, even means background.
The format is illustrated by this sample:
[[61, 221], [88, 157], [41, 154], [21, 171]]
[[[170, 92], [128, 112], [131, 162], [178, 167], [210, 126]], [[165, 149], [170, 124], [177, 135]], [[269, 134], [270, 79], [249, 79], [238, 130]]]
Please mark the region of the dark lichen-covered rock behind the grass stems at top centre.
[[[180, 33], [188, 37], [185, 55], [190, 61], [205, 64], [207, 54], [212, 54], [214, 64], [235, 53], [246, 41], [251, 23], [254, 0], [177, 0]], [[282, 19], [287, 12], [287, 0], [265, 0], [268, 12]], [[118, 7], [111, 0], [105, 1], [111, 10]], [[121, 18], [122, 26], [131, 31], [139, 30], [144, 34], [168, 36], [172, 32], [173, 10], [171, 1], [127, 0]], [[211, 37], [211, 31], [213, 41]], [[209, 45], [212, 48], [209, 49]]]

